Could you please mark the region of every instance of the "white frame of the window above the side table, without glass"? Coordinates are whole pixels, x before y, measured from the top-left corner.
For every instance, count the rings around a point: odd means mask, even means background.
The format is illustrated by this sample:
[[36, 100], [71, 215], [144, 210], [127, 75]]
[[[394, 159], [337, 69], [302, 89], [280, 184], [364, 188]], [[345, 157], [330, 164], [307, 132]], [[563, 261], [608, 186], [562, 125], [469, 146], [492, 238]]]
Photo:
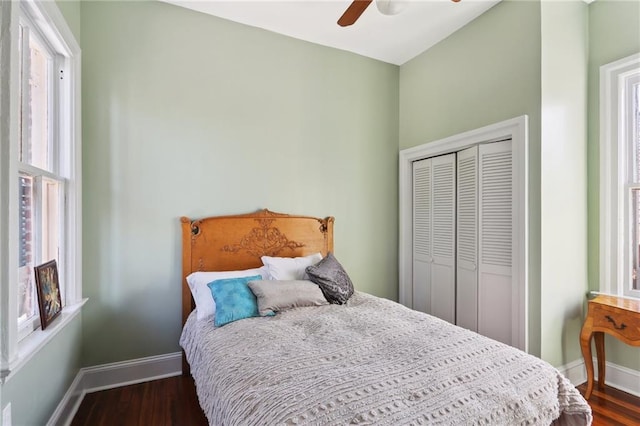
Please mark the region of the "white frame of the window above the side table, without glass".
[[627, 171], [628, 87], [640, 76], [640, 53], [600, 67], [600, 292], [640, 298], [631, 289]]

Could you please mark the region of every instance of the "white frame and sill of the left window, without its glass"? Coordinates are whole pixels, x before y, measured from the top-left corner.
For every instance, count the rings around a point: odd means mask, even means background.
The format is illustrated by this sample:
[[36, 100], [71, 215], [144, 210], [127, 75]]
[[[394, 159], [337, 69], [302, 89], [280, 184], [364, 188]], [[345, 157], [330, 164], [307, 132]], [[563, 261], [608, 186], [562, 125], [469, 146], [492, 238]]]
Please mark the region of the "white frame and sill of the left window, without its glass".
[[[70, 113], [56, 129], [63, 156], [60, 164], [66, 178], [67, 192], [63, 200], [66, 215], [61, 234], [65, 255], [61, 270], [65, 271], [66, 306], [59, 319], [46, 330], [36, 330], [19, 340], [17, 318], [18, 282], [18, 159], [19, 149], [19, 22], [26, 15], [37, 25], [51, 47], [65, 57], [63, 91]], [[82, 299], [82, 199], [81, 199], [81, 55], [73, 33], [55, 2], [24, 0], [0, 2], [0, 380], [9, 380], [60, 330], [71, 322], [86, 302]], [[60, 65], [60, 64], [58, 64]], [[58, 68], [56, 68], [58, 69]], [[55, 76], [58, 78], [59, 76]]]

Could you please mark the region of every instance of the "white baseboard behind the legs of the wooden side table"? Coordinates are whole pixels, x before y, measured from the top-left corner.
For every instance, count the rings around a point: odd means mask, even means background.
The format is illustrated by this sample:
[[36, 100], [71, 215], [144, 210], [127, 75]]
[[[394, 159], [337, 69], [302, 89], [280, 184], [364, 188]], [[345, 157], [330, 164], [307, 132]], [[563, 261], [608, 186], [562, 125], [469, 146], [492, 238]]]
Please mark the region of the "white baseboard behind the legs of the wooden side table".
[[[632, 370], [611, 362], [606, 362], [605, 364], [607, 368], [605, 379], [608, 386], [635, 396], [640, 396], [640, 371]], [[593, 359], [593, 368], [596, 377], [598, 377], [598, 361], [595, 357]], [[558, 370], [568, 378], [574, 386], [587, 381], [587, 370], [583, 360], [570, 362], [562, 367], [558, 367]]]

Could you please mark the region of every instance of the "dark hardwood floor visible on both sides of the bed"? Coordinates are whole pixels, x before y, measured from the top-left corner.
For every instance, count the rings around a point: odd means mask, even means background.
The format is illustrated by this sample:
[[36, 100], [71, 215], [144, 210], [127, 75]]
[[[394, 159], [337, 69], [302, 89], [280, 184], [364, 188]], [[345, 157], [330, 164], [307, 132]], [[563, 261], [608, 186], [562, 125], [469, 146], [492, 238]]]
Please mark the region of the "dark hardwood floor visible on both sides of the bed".
[[[586, 386], [578, 389], [584, 394]], [[589, 399], [593, 426], [640, 425], [640, 398], [614, 388]], [[191, 377], [170, 377], [87, 394], [72, 426], [206, 425]]]

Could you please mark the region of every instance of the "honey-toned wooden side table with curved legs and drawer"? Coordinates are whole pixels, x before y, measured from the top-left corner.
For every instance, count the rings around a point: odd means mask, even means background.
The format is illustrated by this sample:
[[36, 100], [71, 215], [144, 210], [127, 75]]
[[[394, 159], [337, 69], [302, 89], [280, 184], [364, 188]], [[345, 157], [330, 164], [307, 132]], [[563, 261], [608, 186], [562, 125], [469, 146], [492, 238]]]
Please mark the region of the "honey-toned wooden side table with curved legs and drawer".
[[599, 295], [589, 301], [587, 317], [580, 332], [580, 346], [584, 365], [587, 368], [585, 399], [589, 399], [591, 392], [593, 392], [594, 372], [591, 337], [596, 342], [598, 388], [604, 387], [604, 333], [610, 334], [628, 345], [640, 346], [640, 300]]

